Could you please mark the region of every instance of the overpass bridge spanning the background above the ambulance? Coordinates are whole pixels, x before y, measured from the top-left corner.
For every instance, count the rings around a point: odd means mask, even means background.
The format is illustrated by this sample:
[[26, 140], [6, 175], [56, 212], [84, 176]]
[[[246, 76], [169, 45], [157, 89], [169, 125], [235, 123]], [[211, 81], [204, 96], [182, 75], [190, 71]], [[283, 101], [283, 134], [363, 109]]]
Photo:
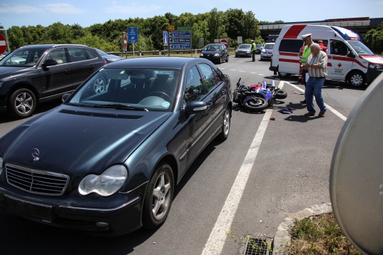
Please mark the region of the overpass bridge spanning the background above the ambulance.
[[275, 38], [280, 34], [283, 26], [292, 24], [307, 24], [307, 25], [325, 25], [325, 26], [340, 26], [359, 33], [363, 38], [364, 34], [372, 28], [377, 28], [383, 22], [383, 18], [349, 18], [349, 19], [326, 19], [324, 21], [300, 21], [300, 22], [285, 22], [274, 24], [261, 24], [260, 33], [262, 38], [267, 41], [269, 36]]

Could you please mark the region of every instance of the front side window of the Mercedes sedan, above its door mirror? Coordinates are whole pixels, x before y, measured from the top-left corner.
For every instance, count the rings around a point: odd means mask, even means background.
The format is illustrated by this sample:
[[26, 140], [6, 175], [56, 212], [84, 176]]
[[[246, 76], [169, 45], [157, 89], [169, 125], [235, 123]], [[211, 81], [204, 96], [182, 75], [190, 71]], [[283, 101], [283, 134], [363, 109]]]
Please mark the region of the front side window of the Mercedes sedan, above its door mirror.
[[200, 72], [198, 72], [198, 68], [196, 66], [193, 66], [193, 68], [188, 71], [185, 94], [183, 95], [183, 98], [186, 103], [189, 103], [191, 101], [200, 100], [204, 95], [206, 95], [206, 91], [203, 83], [201, 82]]

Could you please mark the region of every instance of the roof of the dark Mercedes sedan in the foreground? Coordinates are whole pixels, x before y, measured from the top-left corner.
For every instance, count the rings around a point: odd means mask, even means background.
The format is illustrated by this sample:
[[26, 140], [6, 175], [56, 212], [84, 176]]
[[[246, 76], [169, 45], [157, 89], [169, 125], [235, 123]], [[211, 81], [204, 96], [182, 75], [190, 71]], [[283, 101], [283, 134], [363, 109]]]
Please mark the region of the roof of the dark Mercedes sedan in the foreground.
[[188, 57], [146, 57], [146, 58], [129, 58], [113, 63], [108, 63], [106, 68], [172, 68], [180, 69], [184, 65], [206, 61], [203, 58]]

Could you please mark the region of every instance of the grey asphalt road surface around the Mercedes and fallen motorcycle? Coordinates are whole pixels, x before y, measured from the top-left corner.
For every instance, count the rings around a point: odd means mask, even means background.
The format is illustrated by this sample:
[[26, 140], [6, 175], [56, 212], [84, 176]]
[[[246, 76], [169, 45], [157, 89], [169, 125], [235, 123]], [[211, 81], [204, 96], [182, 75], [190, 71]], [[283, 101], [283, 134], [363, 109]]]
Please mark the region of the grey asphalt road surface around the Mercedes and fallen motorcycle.
[[[236, 236], [272, 237], [288, 214], [330, 202], [330, 162], [344, 120], [330, 110], [324, 118], [303, 116], [307, 113], [299, 103], [303, 95], [290, 85], [297, 77], [279, 80], [268, 70], [269, 66], [268, 61], [257, 59], [253, 63], [250, 58], [233, 57], [218, 66], [230, 76], [233, 88], [239, 78], [247, 85], [274, 79], [276, 85], [283, 84], [288, 96], [266, 113], [245, 113], [235, 108], [228, 140], [212, 142], [195, 160], [176, 188], [169, 217], [160, 229], [140, 229], [117, 237], [92, 236], [0, 211], [1, 254], [202, 254], [209, 237], [213, 240], [210, 245], [222, 248], [220, 254], [238, 254], [242, 244], [230, 238], [220, 240], [214, 231], [210, 236], [218, 219], [230, 220]], [[363, 90], [349, 88], [342, 82], [327, 82], [323, 90], [325, 103], [345, 117], [363, 94]], [[41, 104], [37, 112], [43, 113], [60, 103], [56, 100]], [[280, 107], [295, 110], [282, 115], [277, 113]], [[276, 120], [262, 121], [265, 114]], [[10, 119], [0, 111], [0, 136], [23, 121]], [[264, 135], [255, 139], [260, 127], [265, 127]], [[254, 140], [260, 142], [257, 153], [247, 155]], [[237, 182], [238, 173], [247, 163], [245, 157], [252, 157], [254, 162], [247, 178]], [[230, 196], [230, 190], [242, 192]], [[233, 201], [238, 202], [237, 207], [230, 207], [233, 212], [221, 212]], [[233, 217], [228, 219], [228, 215]], [[220, 233], [228, 230], [225, 227]]]

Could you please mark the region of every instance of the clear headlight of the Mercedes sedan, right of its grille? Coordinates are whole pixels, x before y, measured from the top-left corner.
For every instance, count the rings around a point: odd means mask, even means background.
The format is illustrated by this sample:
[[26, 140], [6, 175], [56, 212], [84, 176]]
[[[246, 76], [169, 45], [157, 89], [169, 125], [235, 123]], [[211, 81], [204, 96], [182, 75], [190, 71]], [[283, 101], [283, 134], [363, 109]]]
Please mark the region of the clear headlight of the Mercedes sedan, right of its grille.
[[97, 193], [101, 197], [108, 197], [118, 192], [128, 177], [128, 171], [123, 165], [113, 165], [101, 175], [86, 175], [78, 185], [78, 193], [87, 195]]

